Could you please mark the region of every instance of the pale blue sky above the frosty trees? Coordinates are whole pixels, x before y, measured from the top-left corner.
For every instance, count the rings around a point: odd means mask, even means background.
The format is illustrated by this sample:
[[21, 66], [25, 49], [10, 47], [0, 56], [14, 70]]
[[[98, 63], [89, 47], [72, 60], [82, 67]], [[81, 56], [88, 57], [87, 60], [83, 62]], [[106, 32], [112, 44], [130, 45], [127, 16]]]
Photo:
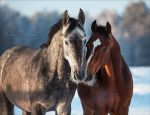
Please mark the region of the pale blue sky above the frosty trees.
[[[131, 0], [76, 0], [76, 1], [52, 1], [52, 0], [0, 0], [1, 5], [8, 4], [16, 11], [26, 16], [31, 16], [38, 11], [52, 11], [57, 10], [59, 13], [63, 13], [68, 10], [68, 13], [72, 16], [76, 16], [79, 9], [91, 16], [97, 16], [105, 9], [116, 10], [119, 15], [123, 15], [124, 9]], [[132, 0], [138, 2], [140, 0]], [[150, 0], [144, 0], [146, 5], [150, 7]]]

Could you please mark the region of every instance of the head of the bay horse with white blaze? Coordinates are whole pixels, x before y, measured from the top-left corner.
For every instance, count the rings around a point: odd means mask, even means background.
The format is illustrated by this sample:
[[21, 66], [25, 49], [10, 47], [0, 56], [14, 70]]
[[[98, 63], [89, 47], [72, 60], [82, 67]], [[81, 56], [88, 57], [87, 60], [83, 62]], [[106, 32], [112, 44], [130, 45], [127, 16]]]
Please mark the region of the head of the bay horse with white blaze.
[[92, 36], [86, 44], [87, 54], [84, 59], [85, 84], [87, 85], [94, 84], [96, 73], [104, 68], [110, 56], [110, 24], [107, 22], [106, 26], [98, 26], [95, 20], [92, 23], [91, 30]]

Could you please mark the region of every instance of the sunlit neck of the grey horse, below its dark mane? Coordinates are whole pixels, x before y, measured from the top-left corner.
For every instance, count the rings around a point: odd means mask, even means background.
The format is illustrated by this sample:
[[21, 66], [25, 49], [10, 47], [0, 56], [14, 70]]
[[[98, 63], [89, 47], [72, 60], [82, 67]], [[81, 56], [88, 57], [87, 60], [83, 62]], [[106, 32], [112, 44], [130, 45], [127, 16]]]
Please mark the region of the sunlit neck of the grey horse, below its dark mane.
[[[58, 31], [52, 38], [51, 44], [47, 48], [47, 61], [52, 73], [58, 74], [59, 79], [69, 76], [71, 73], [70, 65], [64, 58], [63, 38]], [[64, 75], [65, 74], [65, 75]]]

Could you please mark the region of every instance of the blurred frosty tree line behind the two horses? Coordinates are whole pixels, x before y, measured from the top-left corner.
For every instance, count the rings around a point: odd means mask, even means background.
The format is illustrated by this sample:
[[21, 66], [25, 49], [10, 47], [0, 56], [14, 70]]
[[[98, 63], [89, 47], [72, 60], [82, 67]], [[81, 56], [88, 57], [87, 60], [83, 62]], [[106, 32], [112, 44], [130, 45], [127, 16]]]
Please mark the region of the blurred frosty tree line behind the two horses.
[[[47, 41], [49, 28], [62, 16], [57, 11], [41, 11], [27, 17], [8, 5], [2, 5], [0, 11], [0, 55], [17, 45], [39, 49]], [[87, 38], [91, 35], [93, 20], [95, 18], [86, 14]], [[116, 11], [104, 10], [96, 20], [101, 25], [109, 21], [129, 66], [150, 65], [150, 9], [145, 2], [129, 2], [122, 16]]]

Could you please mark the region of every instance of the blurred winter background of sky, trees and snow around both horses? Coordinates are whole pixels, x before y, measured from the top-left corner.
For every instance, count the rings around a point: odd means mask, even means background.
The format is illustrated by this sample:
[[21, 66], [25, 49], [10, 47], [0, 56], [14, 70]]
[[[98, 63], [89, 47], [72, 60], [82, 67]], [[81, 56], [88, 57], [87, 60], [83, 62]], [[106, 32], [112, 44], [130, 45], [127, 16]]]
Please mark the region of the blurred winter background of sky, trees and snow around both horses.
[[[150, 114], [150, 1], [17, 1], [0, 0], [0, 55], [7, 49], [29, 46], [39, 49], [47, 41], [49, 28], [68, 10], [77, 18], [85, 12], [87, 39], [91, 23], [112, 26], [112, 34], [133, 75], [134, 93], [130, 115]], [[15, 115], [21, 115], [15, 107]], [[48, 112], [46, 115], [53, 115]], [[72, 101], [72, 115], [82, 115], [78, 94]]]

